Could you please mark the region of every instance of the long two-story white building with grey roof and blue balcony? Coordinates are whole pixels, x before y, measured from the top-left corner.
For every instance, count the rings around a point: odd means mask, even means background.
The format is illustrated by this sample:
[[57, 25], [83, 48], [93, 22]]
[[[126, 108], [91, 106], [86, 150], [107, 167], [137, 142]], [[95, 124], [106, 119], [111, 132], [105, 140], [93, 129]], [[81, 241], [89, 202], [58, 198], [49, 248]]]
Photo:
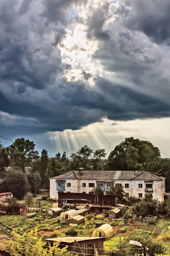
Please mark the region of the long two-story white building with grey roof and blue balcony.
[[164, 200], [165, 178], [146, 171], [70, 171], [50, 179], [50, 197], [58, 199], [58, 191], [89, 193], [94, 187], [107, 191], [115, 185], [124, 186], [126, 196], [143, 198], [146, 192], [154, 199]]

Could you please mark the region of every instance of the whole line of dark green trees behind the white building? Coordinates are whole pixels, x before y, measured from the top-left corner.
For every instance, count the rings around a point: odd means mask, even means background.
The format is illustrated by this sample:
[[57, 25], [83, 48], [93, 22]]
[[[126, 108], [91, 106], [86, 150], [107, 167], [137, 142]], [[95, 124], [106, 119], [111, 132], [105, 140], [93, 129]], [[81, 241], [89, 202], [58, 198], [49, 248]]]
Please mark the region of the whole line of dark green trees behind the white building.
[[[93, 151], [84, 145], [72, 152], [70, 160], [66, 152], [57, 152], [49, 157], [43, 149], [41, 155], [35, 150], [33, 141], [17, 138], [4, 147], [0, 142], [0, 191], [11, 191], [17, 198], [23, 198], [27, 191], [49, 189], [49, 178], [83, 167], [86, 170], [146, 170], [160, 173], [167, 179], [170, 191], [170, 160], [160, 157], [160, 150], [149, 141], [125, 138], [116, 145], [105, 159], [105, 149]], [[6, 167], [11, 167], [8, 170]], [[27, 168], [26, 168], [27, 167]]]

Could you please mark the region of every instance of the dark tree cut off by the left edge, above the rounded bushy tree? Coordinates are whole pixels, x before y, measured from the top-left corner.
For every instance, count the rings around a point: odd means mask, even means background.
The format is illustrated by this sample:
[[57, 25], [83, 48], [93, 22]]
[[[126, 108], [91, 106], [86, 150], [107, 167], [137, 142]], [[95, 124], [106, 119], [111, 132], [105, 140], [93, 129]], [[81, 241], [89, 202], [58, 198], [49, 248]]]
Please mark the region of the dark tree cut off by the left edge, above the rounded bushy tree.
[[9, 164], [10, 164], [10, 160], [8, 157], [8, 152], [3, 147], [3, 144], [1, 144], [1, 141], [0, 141], [0, 176], [1, 178], [4, 177], [5, 167], [8, 167]]

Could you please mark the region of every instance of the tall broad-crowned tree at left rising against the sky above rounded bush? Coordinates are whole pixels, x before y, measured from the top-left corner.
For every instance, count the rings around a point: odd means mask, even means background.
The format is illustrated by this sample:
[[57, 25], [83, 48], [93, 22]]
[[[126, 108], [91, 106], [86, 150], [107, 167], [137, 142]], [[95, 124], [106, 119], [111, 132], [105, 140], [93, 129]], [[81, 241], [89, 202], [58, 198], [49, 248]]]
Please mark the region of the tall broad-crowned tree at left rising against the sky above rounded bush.
[[18, 167], [23, 172], [25, 167], [30, 166], [33, 160], [39, 158], [33, 141], [17, 138], [13, 144], [7, 147], [12, 166]]

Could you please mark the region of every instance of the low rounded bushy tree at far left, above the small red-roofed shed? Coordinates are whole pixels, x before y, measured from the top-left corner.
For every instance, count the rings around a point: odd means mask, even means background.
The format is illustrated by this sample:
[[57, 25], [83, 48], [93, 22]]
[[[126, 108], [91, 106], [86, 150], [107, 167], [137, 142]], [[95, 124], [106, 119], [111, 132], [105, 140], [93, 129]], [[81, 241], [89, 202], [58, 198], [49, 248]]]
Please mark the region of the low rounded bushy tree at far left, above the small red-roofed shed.
[[0, 184], [0, 190], [2, 192], [12, 192], [18, 199], [22, 199], [29, 189], [30, 186], [27, 175], [21, 171], [14, 172], [13, 170], [9, 170], [6, 173], [3, 182]]

